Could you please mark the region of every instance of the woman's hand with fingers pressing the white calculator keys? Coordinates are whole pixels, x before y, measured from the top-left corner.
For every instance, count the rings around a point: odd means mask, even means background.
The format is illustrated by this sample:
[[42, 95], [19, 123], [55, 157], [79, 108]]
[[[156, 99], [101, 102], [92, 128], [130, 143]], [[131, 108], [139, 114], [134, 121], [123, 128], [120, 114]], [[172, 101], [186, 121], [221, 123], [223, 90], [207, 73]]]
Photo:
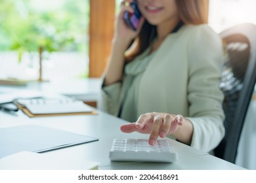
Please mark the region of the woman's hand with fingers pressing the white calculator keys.
[[148, 143], [154, 146], [158, 136], [164, 138], [168, 134], [174, 134], [184, 122], [185, 120], [181, 115], [150, 112], [140, 115], [135, 123], [122, 125], [120, 129], [124, 133], [132, 133], [134, 131], [150, 133]]

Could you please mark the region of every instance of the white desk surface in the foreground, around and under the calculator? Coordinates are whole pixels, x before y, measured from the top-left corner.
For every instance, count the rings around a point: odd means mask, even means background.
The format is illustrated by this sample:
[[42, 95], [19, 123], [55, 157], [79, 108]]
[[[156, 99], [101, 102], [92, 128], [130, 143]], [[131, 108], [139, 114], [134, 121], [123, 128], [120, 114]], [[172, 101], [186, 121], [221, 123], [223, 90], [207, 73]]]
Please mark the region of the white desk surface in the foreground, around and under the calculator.
[[[179, 154], [179, 160], [175, 163], [112, 162], [108, 158], [108, 153], [114, 138], [148, 138], [148, 135], [139, 133], [122, 133], [119, 130], [119, 126], [125, 123], [119, 118], [100, 111], [98, 111], [97, 115], [43, 118], [28, 118], [22, 112], [13, 115], [0, 111], [0, 127], [36, 124], [99, 138], [99, 141], [45, 152], [52, 158], [97, 161], [100, 163], [99, 169], [243, 169], [205, 152], [171, 140], [173, 150]], [[65, 161], [62, 163], [65, 163]]]

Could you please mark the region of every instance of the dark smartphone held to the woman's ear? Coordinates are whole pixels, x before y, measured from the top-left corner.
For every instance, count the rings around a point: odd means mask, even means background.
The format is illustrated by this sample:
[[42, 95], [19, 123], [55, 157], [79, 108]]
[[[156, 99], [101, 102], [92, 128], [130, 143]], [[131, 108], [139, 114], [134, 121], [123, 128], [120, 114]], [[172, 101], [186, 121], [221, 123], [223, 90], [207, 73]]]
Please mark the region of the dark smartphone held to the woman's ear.
[[123, 14], [123, 18], [126, 22], [126, 24], [131, 27], [131, 29], [133, 29], [133, 31], [136, 31], [139, 27], [139, 20], [141, 17], [141, 13], [140, 10], [137, 6], [137, 1], [133, 1], [133, 3], [131, 3], [131, 7], [134, 9], [133, 13], [130, 12], [125, 12]]

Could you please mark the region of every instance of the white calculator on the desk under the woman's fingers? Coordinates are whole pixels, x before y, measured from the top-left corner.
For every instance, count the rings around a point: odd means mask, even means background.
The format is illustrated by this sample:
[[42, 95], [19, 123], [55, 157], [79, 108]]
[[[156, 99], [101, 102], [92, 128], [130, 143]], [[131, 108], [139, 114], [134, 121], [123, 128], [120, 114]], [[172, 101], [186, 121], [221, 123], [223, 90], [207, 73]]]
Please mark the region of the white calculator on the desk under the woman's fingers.
[[148, 144], [148, 139], [114, 139], [109, 157], [111, 161], [173, 163], [178, 154], [167, 139], [159, 139], [154, 146]]

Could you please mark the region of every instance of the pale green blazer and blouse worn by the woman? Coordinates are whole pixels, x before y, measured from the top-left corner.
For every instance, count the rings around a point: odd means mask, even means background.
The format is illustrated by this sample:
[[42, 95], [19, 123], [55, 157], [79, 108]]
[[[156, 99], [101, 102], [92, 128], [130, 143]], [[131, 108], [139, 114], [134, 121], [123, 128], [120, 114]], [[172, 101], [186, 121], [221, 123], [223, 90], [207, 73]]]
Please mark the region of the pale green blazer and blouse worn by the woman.
[[122, 82], [102, 88], [100, 109], [128, 122], [146, 112], [182, 114], [194, 127], [191, 146], [213, 150], [224, 137], [219, 35], [205, 24], [183, 25], [147, 52], [125, 66]]

